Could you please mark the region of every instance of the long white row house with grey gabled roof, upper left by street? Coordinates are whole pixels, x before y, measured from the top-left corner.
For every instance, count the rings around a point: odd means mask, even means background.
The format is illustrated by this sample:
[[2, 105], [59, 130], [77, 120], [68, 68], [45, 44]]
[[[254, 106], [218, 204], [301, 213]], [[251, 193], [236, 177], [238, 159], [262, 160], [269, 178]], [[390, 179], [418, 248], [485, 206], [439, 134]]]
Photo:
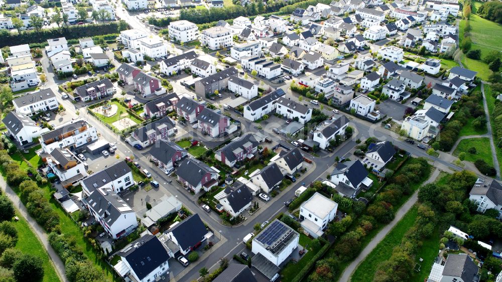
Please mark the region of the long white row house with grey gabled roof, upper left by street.
[[26, 115], [57, 109], [59, 102], [51, 88], [32, 92], [12, 100], [16, 112]]

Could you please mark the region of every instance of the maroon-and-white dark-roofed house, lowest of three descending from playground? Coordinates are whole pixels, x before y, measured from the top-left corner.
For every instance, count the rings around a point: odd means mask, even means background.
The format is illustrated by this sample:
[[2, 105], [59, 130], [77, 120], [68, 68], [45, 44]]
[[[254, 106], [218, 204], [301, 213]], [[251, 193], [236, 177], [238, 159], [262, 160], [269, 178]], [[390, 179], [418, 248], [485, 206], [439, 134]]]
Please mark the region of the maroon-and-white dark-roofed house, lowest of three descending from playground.
[[209, 191], [211, 187], [218, 185], [218, 173], [203, 162], [187, 158], [176, 170], [178, 182], [197, 194], [201, 189]]

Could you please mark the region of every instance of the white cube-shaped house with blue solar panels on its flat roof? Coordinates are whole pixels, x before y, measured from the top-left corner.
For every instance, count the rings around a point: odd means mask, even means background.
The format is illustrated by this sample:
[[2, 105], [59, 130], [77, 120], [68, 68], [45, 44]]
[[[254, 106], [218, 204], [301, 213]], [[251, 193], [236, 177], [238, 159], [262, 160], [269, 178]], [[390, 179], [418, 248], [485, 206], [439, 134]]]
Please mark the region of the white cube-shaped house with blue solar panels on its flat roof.
[[[270, 239], [270, 234], [274, 234], [273, 240]], [[253, 238], [252, 248], [254, 253], [279, 266], [298, 247], [299, 240], [298, 232], [275, 219]]]

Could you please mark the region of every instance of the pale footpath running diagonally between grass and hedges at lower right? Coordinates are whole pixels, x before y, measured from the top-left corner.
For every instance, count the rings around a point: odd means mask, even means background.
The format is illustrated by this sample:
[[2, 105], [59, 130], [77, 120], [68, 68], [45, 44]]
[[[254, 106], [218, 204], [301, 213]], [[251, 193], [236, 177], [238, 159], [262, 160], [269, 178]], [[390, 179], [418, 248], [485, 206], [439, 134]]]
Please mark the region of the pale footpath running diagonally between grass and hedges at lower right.
[[[440, 170], [435, 169], [429, 179], [424, 182], [424, 184], [434, 182], [436, 178], [439, 176]], [[404, 203], [404, 205], [396, 212], [396, 217], [394, 218], [391, 223], [386, 225], [378, 234], [374, 236], [373, 239], [369, 242], [369, 244], [361, 251], [361, 253], [350, 263], [347, 268], [342, 273], [342, 276], [340, 277], [339, 281], [341, 282], [347, 282], [349, 281], [350, 277], [352, 276], [352, 273], [354, 270], [357, 268], [359, 263], [361, 263], [366, 256], [382, 241], [385, 236], [387, 236], [387, 233], [389, 233], [392, 228], [403, 218], [403, 216], [415, 205], [415, 203], [418, 201], [418, 190], [413, 193], [411, 198]]]

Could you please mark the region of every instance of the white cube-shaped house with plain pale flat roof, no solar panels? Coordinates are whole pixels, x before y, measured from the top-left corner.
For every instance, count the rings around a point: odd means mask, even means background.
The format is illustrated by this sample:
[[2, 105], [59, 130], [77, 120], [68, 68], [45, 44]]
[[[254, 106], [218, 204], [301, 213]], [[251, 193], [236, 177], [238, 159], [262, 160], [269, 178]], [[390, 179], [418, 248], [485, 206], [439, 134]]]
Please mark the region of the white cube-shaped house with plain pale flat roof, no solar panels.
[[310, 236], [317, 238], [336, 216], [338, 204], [315, 192], [300, 206], [301, 226]]

